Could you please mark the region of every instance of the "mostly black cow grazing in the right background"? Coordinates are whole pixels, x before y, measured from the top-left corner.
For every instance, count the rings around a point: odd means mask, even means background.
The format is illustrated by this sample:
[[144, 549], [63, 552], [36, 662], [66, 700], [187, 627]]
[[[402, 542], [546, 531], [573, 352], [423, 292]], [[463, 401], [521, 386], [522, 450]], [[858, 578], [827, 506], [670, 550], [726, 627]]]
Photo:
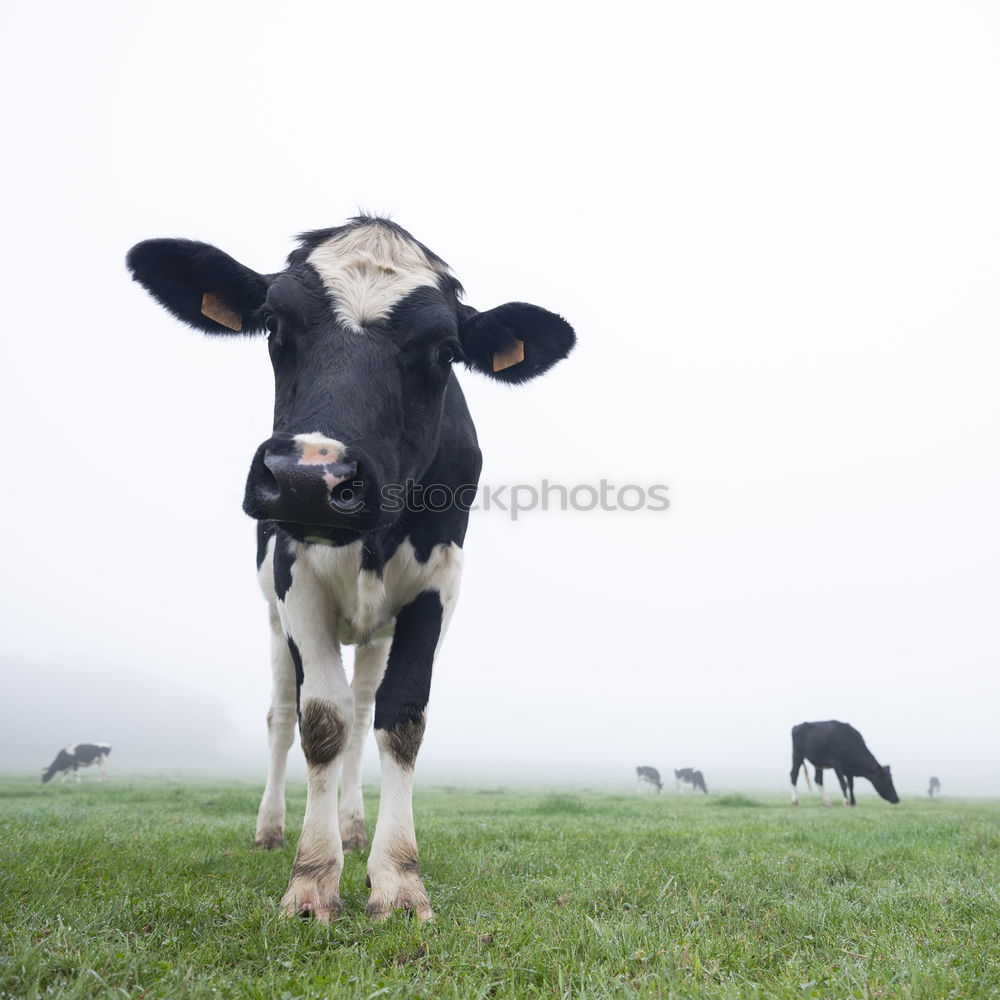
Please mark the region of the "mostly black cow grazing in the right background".
[[857, 805], [854, 799], [854, 779], [867, 778], [875, 791], [888, 802], [899, 802], [889, 766], [883, 767], [865, 746], [865, 741], [853, 726], [831, 719], [828, 722], [803, 722], [792, 728], [792, 805], [799, 804], [795, 789], [799, 768], [809, 760], [816, 768], [816, 784], [823, 795], [823, 805], [830, 798], [823, 787], [823, 769], [832, 767], [845, 806]]

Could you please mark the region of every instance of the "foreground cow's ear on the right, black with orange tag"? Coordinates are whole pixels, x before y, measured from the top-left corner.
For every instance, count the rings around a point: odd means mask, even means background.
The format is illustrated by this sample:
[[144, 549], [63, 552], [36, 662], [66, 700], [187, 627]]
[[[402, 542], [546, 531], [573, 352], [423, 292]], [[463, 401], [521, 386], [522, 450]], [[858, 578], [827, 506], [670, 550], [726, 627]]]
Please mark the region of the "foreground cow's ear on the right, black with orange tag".
[[499, 382], [527, 382], [562, 361], [576, 343], [573, 327], [526, 302], [489, 312], [461, 307], [459, 338], [465, 363]]

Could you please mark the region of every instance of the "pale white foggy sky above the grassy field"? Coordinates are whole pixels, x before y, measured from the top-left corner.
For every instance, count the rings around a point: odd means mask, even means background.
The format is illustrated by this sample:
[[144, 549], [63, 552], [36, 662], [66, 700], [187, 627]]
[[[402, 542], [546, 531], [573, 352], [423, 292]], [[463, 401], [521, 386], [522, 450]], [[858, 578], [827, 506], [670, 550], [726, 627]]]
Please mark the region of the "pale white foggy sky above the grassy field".
[[240, 501], [267, 351], [181, 326], [124, 255], [185, 236], [275, 271], [360, 208], [477, 308], [577, 330], [530, 385], [460, 372], [484, 482], [671, 500], [474, 515], [418, 779], [784, 789], [791, 726], [840, 718], [901, 794], [1000, 794], [996, 7], [99, 0], [3, 26], [0, 770], [100, 739], [113, 774], [263, 779]]

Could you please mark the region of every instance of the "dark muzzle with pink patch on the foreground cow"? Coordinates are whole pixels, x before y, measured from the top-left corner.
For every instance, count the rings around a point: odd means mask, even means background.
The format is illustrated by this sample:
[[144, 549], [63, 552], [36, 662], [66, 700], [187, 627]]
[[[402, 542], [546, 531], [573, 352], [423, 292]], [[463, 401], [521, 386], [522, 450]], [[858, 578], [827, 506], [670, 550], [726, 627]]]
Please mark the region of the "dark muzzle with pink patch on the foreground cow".
[[365, 490], [358, 463], [321, 434], [275, 434], [254, 455], [243, 509], [261, 521], [360, 530]]

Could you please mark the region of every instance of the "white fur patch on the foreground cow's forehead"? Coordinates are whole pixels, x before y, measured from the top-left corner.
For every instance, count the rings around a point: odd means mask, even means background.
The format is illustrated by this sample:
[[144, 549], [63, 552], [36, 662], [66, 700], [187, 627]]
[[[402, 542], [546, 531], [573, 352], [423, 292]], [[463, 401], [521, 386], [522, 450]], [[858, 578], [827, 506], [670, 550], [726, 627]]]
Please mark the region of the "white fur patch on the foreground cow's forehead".
[[435, 286], [444, 268], [386, 226], [358, 226], [321, 243], [309, 263], [336, 300], [341, 322], [362, 332], [415, 288]]

